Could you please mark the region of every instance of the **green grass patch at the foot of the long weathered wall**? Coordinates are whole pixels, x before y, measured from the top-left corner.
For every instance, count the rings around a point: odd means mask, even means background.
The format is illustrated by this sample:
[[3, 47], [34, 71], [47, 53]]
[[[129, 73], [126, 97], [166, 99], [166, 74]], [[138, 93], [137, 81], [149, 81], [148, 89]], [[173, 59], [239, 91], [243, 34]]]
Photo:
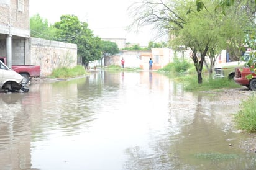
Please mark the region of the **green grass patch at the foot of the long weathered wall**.
[[74, 68], [57, 68], [52, 71], [50, 78], [73, 78], [76, 76], [81, 76], [88, 74], [85, 68], [81, 65], [77, 65]]

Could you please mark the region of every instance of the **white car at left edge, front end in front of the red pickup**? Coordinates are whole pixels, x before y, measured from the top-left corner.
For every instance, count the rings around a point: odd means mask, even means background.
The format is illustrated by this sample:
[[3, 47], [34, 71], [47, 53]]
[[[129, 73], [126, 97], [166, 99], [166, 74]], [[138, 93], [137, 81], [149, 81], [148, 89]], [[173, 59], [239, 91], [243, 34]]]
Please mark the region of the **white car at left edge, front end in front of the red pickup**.
[[0, 61], [0, 89], [8, 92], [29, 92], [22, 80], [23, 76]]

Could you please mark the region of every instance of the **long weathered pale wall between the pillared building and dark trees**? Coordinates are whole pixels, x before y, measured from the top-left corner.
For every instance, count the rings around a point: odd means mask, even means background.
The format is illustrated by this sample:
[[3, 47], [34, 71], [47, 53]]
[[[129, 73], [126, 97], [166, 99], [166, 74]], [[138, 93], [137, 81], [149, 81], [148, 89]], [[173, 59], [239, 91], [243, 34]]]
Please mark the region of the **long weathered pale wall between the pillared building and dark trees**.
[[77, 65], [77, 45], [72, 43], [30, 38], [30, 63], [41, 66], [41, 76], [48, 76], [56, 68]]

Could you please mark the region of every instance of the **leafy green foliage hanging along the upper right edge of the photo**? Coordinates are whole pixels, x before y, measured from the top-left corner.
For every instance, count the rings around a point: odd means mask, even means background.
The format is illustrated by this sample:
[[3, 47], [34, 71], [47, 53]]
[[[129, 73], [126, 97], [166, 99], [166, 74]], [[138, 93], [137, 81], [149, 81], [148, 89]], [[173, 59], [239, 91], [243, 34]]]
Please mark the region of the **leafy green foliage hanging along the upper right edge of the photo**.
[[[204, 2], [201, 0], [196, 1], [197, 11], [203, 11], [205, 9], [208, 10], [207, 7], [204, 5]], [[239, 10], [240, 9], [240, 12]], [[237, 61], [237, 60], [245, 60], [245, 66], [249, 66], [251, 71], [255, 71], [255, 61], [256, 61], [256, 55], [252, 53], [249, 58], [240, 58], [241, 53], [244, 53], [244, 51], [247, 48], [250, 48], [252, 50], [256, 50], [256, 23], [255, 23], [255, 13], [256, 13], [256, 0], [246, 0], [246, 1], [230, 1], [230, 0], [221, 0], [218, 2], [217, 6], [215, 7], [216, 12], [221, 12], [225, 16], [227, 14], [231, 17], [229, 17], [230, 20], [233, 20], [233, 22], [237, 21], [234, 16], [239, 16], [240, 18], [244, 18], [246, 20], [246, 24], [242, 25], [243, 30], [245, 33], [244, 36], [244, 42], [243, 44], [239, 44], [239, 42], [230, 41], [229, 46], [227, 47], [227, 50], [229, 51], [229, 55], [231, 60]], [[220, 11], [217, 11], [217, 9], [221, 9]], [[237, 15], [237, 12], [239, 14]], [[228, 25], [228, 24], [226, 24]], [[233, 35], [231, 34], [230, 37]], [[237, 48], [240, 47], [240, 48]], [[235, 55], [235, 53], [238, 53], [239, 56]], [[249, 74], [247, 76], [248, 79], [252, 79], [252, 74]]]

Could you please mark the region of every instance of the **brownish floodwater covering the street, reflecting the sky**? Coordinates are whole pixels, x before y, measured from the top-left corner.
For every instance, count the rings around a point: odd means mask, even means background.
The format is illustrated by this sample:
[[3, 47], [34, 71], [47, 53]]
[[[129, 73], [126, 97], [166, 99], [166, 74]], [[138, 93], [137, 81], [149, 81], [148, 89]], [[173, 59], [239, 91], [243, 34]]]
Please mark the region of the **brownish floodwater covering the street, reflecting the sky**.
[[2, 92], [0, 169], [255, 169], [214, 99], [149, 71]]

